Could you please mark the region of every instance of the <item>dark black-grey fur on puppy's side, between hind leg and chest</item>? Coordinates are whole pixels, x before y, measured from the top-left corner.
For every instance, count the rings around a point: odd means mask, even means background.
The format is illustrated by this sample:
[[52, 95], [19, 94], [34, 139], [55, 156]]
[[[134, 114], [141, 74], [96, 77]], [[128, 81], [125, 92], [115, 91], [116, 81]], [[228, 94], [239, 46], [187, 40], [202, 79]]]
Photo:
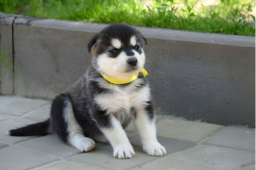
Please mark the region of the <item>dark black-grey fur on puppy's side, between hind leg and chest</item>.
[[[110, 126], [109, 116], [94, 103], [94, 97], [100, 94], [110, 94], [111, 90], [100, 87], [96, 80], [105, 81], [105, 79], [93, 67], [89, 68], [87, 76], [87, 79], [91, 81], [87, 83], [84, 81], [86, 78], [82, 77], [68, 90], [68, 93], [78, 124], [82, 127], [84, 134], [93, 137], [101, 134], [98, 126]], [[92, 121], [92, 119], [97, 120], [97, 122]]]

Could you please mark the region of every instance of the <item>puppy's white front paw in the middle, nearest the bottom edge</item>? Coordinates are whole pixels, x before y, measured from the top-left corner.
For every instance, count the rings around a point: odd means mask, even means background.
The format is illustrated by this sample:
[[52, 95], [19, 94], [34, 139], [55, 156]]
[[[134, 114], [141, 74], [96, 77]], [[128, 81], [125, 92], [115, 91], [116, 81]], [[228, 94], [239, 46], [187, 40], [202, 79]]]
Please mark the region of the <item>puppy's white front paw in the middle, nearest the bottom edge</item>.
[[134, 156], [135, 152], [133, 150], [132, 145], [123, 145], [120, 147], [114, 148], [114, 157], [119, 159], [127, 159], [132, 158]]

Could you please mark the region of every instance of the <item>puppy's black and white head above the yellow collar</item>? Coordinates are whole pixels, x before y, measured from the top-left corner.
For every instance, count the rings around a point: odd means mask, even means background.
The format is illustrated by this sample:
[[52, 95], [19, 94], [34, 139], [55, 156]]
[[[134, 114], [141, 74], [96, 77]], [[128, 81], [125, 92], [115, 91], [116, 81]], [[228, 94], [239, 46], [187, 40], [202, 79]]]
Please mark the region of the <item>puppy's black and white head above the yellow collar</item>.
[[145, 38], [133, 27], [116, 23], [101, 30], [89, 43], [92, 64], [102, 74], [126, 79], [137, 74], [145, 63]]

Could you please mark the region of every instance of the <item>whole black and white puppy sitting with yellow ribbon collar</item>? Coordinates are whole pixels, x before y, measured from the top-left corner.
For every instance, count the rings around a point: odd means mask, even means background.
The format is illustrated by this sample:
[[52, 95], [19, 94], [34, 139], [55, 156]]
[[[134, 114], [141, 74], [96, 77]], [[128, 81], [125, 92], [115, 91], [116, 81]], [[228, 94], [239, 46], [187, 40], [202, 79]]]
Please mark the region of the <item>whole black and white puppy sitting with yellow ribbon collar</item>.
[[[92, 64], [86, 74], [56, 96], [45, 122], [10, 130], [12, 136], [56, 134], [81, 152], [95, 141], [108, 141], [114, 157], [135, 152], [124, 128], [134, 120], [143, 150], [166, 154], [157, 141], [150, 86], [145, 79], [145, 38], [133, 27], [113, 24], [96, 34], [88, 45]], [[95, 140], [95, 141], [94, 141]]]

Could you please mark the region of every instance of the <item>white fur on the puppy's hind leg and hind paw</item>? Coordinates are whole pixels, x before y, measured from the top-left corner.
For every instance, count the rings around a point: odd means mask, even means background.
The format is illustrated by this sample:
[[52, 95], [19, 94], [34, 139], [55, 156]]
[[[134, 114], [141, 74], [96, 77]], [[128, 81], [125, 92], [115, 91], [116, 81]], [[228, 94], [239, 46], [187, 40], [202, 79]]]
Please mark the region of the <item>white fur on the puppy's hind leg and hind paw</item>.
[[91, 151], [95, 147], [95, 141], [83, 135], [83, 130], [74, 117], [70, 101], [66, 102], [63, 115], [68, 125], [68, 142], [81, 152]]

